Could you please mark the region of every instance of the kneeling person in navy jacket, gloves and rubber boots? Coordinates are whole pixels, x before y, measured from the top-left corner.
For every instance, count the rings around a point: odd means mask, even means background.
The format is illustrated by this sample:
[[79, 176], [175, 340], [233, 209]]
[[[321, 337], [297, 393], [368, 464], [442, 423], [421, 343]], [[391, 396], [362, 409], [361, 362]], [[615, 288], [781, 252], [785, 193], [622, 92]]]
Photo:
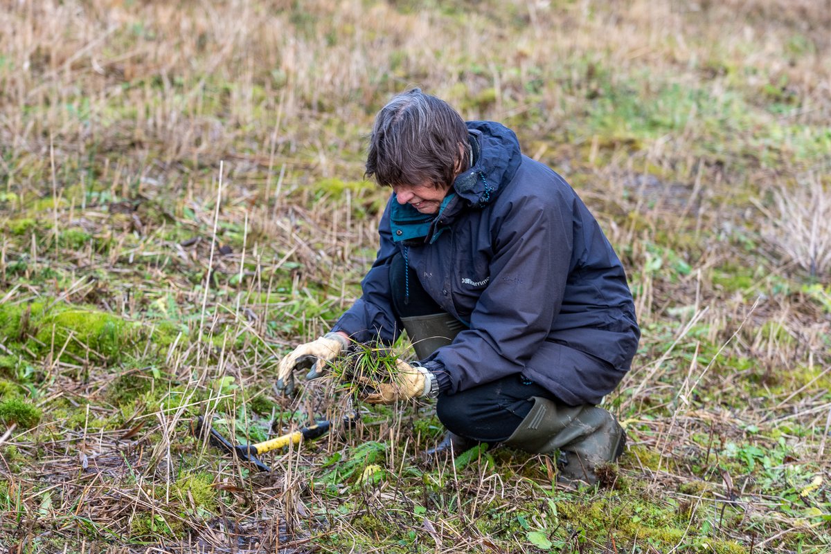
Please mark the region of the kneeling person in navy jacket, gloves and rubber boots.
[[303, 359], [406, 329], [419, 361], [399, 362], [404, 385], [365, 401], [435, 397], [440, 448], [560, 450], [563, 479], [596, 481], [626, 443], [597, 404], [629, 370], [640, 331], [621, 262], [576, 192], [510, 129], [465, 123], [418, 89], [377, 114], [366, 175], [392, 195], [361, 299], [283, 358], [278, 386]]

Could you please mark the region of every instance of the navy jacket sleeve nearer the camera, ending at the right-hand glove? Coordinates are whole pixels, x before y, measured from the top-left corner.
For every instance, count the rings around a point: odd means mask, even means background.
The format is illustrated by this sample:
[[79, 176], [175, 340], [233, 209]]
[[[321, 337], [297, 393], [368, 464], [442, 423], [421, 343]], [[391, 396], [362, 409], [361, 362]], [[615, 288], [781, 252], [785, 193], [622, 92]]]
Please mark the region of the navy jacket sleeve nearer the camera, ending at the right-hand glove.
[[453, 394], [523, 372], [563, 304], [574, 243], [573, 199], [562, 191], [510, 199], [490, 222], [490, 280], [470, 329], [428, 358]]

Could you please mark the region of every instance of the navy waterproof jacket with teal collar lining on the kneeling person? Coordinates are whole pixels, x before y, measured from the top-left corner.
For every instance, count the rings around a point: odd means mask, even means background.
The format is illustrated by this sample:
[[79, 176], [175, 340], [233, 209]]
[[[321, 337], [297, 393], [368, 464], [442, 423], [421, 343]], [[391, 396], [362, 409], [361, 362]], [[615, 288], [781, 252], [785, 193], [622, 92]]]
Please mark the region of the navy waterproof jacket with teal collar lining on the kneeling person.
[[596, 404], [628, 371], [640, 338], [621, 262], [572, 187], [524, 156], [513, 131], [467, 125], [471, 168], [438, 215], [391, 197], [363, 295], [333, 330], [360, 343], [398, 337], [390, 263], [401, 252], [427, 294], [466, 325], [422, 361], [445, 394], [519, 373], [567, 404]]

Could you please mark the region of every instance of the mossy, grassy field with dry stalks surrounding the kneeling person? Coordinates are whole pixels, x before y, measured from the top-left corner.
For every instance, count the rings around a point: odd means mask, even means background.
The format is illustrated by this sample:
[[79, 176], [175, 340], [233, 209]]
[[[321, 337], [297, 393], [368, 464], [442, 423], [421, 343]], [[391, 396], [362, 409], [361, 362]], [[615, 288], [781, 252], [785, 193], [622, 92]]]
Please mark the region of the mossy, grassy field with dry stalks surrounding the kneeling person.
[[[3, 2], [0, 545], [829, 552], [828, 8]], [[604, 406], [629, 446], [596, 487], [506, 448], [426, 459], [429, 403], [274, 388], [360, 294], [388, 193], [366, 133], [414, 85], [515, 129], [627, 268], [642, 343]], [[195, 416], [335, 429], [263, 474]]]

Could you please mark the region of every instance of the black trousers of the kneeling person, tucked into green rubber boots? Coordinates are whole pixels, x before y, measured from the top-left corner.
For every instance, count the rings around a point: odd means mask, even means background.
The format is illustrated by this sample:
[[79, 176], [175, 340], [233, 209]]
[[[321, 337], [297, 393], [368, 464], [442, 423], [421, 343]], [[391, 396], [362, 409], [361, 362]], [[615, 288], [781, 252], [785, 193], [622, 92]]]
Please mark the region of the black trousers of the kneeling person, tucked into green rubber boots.
[[[409, 275], [406, 275], [408, 272]], [[392, 305], [398, 318], [445, 313], [421, 286], [416, 272], [396, 254], [390, 268]], [[486, 364], [486, 359], [481, 363]], [[450, 368], [452, 371], [452, 368]], [[557, 398], [519, 373], [452, 395], [440, 394], [435, 412], [456, 435], [481, 442], [507, 440], [534, 406], [534, 396]]]

